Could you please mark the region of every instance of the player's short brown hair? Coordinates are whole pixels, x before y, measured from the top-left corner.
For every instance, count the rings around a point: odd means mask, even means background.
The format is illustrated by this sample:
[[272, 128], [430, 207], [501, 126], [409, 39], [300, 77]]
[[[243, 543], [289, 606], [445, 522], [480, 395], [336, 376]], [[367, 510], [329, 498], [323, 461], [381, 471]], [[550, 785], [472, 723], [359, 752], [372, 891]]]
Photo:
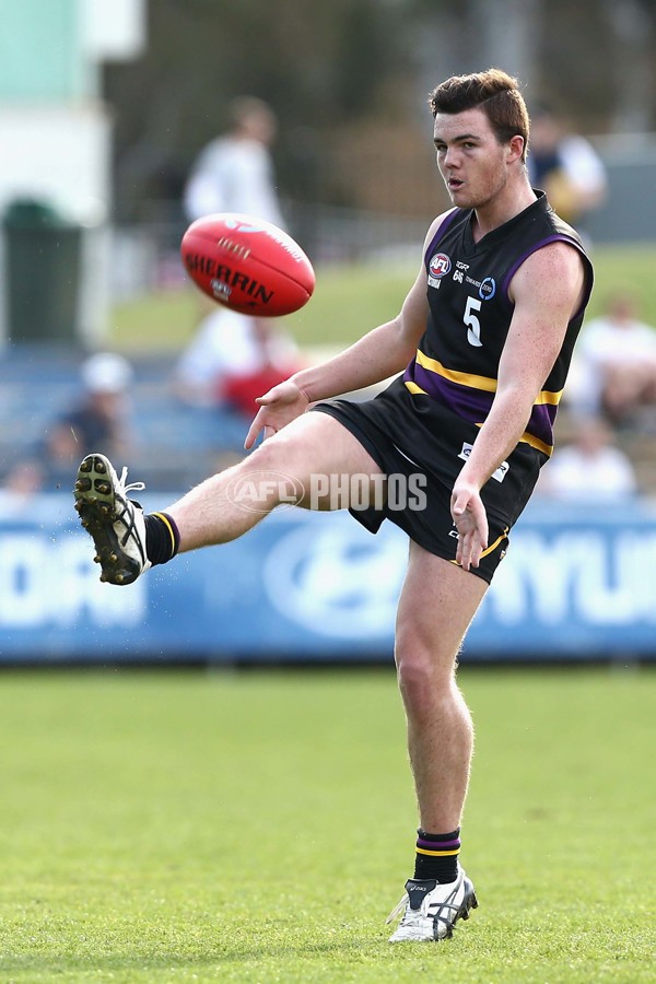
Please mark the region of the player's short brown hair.
[[517, 79], [501, 69], [453, 75], [442, 82], [429, 96], [433, 116], [438, 113], [464, 113], [481, 108], [500, 143], [513, 137], [524, 139], [522, 160], [528, 151], [529, 119]]

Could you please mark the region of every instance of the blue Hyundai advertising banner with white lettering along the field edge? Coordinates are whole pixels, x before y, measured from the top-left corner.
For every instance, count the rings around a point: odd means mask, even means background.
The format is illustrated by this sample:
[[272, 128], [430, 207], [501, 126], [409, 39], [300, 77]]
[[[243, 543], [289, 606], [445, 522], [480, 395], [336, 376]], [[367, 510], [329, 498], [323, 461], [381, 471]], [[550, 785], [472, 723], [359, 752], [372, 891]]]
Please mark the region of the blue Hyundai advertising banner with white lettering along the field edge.
[[[347, 513], [288, 508], [114, 587], [98, 581], [69, 496], [44, 496], [0, 515], [0, 660], [388, 661], [406, 559], [390, 523], [374, 537]], [[462, 661], [656, 658], [654, 570], [653, 507], [628, 518], [534, 504]]]

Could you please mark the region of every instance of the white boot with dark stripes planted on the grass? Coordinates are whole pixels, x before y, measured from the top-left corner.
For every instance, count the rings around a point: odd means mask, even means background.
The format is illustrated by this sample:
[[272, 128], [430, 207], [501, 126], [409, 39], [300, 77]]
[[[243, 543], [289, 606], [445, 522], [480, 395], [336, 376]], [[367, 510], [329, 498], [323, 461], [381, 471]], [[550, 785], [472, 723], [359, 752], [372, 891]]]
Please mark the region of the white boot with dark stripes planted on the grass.
[[402, 913], [389, 942], [448, 939], [458, 919], [469, 918], [471, 909], [478, 909], [476, 892], [459, 865], [458, 877], [447, 885], [440, 885], [435, 879], [410, 878], [406, 894], [387, 917], [391, 923]]

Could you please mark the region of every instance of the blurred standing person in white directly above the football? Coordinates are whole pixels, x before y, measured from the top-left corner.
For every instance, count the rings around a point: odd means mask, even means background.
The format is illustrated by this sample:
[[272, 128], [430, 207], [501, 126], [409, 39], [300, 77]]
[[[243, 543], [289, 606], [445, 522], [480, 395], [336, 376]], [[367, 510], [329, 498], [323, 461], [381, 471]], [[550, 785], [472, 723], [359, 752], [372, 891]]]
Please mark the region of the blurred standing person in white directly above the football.
[[230, 130], [199, 154], [184, 189], [189, 221], [214, 212], [244, 212], [282, 226], [269, 147], [276, 116], [261, 99], [241, 96], [230, 106]]

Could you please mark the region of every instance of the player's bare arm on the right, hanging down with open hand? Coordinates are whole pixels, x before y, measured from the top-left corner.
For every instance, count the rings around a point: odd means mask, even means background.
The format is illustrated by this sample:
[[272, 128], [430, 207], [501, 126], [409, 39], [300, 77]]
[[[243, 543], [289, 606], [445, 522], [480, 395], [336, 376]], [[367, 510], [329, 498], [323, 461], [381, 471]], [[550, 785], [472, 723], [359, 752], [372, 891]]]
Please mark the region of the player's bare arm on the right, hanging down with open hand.
[[515, 313], [499, 365], [496, 395], [453, 490], [452, 511], [459, 532], [456, 559], [465, 570], [478, 566], [488, 542], [480, 490], [522, 437], [584, 291], [583, 263], [565, 243], [552, 243], [532, 254], [512, 280]]

